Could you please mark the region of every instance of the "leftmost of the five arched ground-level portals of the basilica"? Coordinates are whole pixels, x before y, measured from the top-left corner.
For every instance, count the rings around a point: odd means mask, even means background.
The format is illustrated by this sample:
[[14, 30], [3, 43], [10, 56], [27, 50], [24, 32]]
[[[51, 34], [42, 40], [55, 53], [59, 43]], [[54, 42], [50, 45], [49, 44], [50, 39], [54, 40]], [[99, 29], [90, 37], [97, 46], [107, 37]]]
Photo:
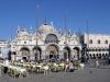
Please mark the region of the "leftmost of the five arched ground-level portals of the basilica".
[[28, 60], [29, 56], [30, 56], [30, 50], [28, 47], [22, 47], [20, 49], [20, 54], [21, 54], [23, 60]]

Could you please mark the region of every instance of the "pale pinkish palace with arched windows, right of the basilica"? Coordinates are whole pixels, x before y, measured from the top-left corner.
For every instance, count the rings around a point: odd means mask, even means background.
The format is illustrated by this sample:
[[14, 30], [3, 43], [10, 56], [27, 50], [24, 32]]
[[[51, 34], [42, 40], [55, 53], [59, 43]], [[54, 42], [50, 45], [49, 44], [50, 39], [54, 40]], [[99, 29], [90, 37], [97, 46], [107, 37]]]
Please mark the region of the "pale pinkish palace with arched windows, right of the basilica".
[[[89, 36], [88, 36], [89, 35]], [[101, 57], [107, 56], [110, 52], [110, 35], [102, 35], [102, 34], [84, 34], [81, 38], [81, 44], [87, 44], [82, 46], [82, 51], [89, 56]]]

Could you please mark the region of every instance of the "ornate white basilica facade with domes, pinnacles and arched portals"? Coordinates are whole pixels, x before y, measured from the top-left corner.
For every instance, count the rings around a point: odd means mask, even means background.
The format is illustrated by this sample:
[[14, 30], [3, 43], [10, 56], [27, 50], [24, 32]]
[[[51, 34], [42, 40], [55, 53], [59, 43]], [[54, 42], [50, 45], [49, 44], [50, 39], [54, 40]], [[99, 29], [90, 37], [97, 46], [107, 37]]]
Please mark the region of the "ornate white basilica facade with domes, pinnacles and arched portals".
[[[10, 40], [11, 38], [9, 38]], [[80, 38], [70, 31], [68, 33], [62, 32], [46, 21], [37, 28], [36, 33], [33, 33], [31, 26], [30, 32], [26, 28], [20, 30], [18, 25], [16, 37], [9, 43], [12, 51], [12, 60], [20, 59], [66, 59], [81, 57], [81, 44]]]

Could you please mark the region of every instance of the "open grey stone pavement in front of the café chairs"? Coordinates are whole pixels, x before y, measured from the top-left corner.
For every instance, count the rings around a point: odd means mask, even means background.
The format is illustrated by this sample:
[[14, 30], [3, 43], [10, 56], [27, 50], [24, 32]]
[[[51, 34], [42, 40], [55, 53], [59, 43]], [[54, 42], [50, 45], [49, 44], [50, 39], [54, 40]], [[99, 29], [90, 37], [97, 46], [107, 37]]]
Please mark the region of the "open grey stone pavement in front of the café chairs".
[[29, 78], [22, 79], [12, 79], [8, 74], [2, 74], [0, 82], [110, 82], [110, 69], [108, 66], [94, 68], [94, 63], [90, 63], [86, 65], [84, 70], [75, 70], [75, 72], [32, 73]]

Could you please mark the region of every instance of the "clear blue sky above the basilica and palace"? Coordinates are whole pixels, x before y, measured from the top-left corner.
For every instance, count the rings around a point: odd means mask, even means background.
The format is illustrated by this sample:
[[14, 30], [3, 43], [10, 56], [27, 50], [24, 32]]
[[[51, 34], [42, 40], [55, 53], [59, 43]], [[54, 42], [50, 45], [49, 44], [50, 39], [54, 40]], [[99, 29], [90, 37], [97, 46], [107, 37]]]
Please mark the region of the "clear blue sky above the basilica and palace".
[[36, 5], [40, 5], [38, 25], [46, 16], [56, 30], [65, 31], [65, 11], [67, 11], [67, 28], [73, 32], [110, 34], [110, 0], [0, 0], [0, 39], [12, 39], [16, 36], [20, 25], [29, 32], [31, 25], [36, 31]]

